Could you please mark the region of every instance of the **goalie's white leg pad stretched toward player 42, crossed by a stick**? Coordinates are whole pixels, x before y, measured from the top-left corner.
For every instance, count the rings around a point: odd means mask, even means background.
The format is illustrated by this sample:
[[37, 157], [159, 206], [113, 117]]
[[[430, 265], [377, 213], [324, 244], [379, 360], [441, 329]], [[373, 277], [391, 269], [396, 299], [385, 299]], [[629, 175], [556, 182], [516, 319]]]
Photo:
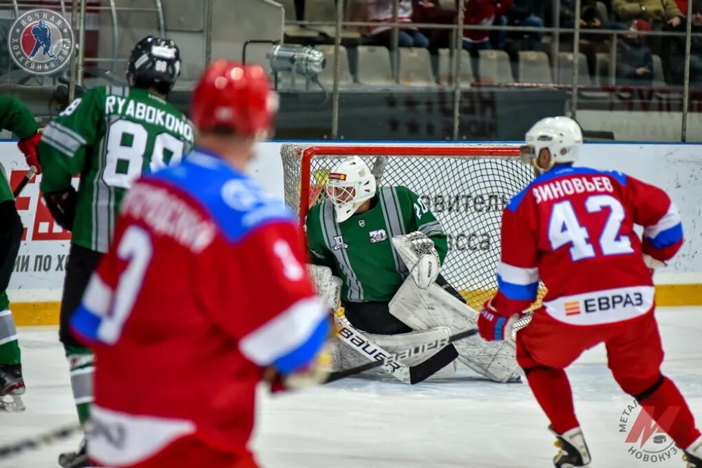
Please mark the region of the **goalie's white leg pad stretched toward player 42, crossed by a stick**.
[[[390, 300], [390, 314], [415, 329], [446, 326], [451, 333], [476, 328], [478, 316], [475, 310], [436, 284], [421, 290], [409, 278]], [[453, 346], [459, 361], [490, 380], [514, 382], [522, 375], [511, 341], [487, 342], [475, 335], [454, 342]]]

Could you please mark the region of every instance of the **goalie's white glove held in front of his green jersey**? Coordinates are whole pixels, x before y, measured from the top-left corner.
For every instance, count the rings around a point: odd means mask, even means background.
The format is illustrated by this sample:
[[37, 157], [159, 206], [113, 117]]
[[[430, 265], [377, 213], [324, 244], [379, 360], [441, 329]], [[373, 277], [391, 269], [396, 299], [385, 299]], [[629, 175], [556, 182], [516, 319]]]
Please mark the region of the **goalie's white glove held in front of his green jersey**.
[[409, 274], [418, 288], [426, 289], [436, 281], [441, 269], [441, 260], [434, 242], [423, 232], [410, 232], [392, 238], [392, 245], [399, 253]]

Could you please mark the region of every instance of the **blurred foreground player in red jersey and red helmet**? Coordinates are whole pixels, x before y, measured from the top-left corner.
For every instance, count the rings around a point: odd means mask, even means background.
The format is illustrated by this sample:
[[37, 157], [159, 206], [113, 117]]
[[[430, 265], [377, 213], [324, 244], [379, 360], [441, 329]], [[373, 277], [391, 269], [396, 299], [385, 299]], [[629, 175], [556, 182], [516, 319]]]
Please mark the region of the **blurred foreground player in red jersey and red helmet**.
[[319, 383], [328, 311], [296, 220], [244, 175], [277, 108], [258, 65], [225, 60], [192, 101], [198, 147], [141, 178], [72, 320], [95, 350], [99, 466], [256, 467], [256, 385]]

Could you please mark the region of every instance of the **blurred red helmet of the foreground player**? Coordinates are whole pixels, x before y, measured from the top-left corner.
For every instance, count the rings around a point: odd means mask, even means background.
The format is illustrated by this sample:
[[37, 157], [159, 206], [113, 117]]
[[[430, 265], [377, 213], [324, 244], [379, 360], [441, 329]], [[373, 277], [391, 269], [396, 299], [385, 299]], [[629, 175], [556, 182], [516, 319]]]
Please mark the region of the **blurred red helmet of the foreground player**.
[[192, 95], [191, 118], [201, 132], [230, 129], [258, 137], [270, 130], [278, 96], [260, 65], [215, 60], [202, 74]]

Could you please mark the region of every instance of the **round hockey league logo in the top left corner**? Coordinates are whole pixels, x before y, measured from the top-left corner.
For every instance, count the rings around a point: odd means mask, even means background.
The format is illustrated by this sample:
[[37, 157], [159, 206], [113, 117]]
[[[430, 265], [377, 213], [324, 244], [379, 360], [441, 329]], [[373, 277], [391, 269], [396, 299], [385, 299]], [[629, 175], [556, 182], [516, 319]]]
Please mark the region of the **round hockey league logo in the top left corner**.
[[7, 39], [12, 60], [25, 72], [36, 75], [54, 74], [68, 65], [74, 44], [70, 23], [47, 8], [19, 16]]

